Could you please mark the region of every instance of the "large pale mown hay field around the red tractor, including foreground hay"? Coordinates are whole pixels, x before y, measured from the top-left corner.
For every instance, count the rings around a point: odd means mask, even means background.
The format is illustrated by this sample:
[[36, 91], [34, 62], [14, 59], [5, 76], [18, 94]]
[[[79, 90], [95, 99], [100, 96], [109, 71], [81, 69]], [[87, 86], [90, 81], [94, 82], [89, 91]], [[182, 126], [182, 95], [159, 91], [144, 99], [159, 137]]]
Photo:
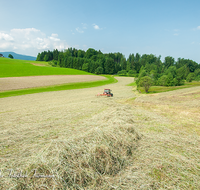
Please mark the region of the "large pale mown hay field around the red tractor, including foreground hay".
[[1, 98], [1, 187], [199, 189], [200, 87], [141, 95], [116, 78]]

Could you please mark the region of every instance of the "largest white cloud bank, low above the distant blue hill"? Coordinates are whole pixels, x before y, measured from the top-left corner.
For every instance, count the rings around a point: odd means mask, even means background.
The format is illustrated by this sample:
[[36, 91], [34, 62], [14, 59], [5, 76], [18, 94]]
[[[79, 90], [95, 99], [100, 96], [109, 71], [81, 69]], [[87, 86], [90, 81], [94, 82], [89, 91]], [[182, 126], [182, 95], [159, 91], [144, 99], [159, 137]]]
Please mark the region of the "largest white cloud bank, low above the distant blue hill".
[[63, 50], [69, 46], [58, 38], [58, 34], [47, 36], [35, 28], [12, 29], [10, 32], [0, 32], [0, 50], [24, 53], [36, 56], [44, 50]]

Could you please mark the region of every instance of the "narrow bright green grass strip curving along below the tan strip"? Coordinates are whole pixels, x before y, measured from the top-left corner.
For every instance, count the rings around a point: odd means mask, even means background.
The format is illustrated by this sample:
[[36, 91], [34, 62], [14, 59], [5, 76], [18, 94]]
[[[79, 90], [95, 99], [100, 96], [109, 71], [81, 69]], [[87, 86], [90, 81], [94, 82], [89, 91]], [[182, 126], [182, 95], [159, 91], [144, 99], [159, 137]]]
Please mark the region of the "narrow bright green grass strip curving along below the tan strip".
[[69, 83], [69, 84], [64, 84], [64, 85], [55, 85], [55, 86], [47, 86], [47, 87], [40, 87], [40, 88], [29, 88], [29, 89], [22, 89], [22, 90], [0, 92], [0, 98], [41, 93], [41, 92], [91, 88], [91, 87], [103, 86], [106, 84], [118, 82], [117, 79], [115, 79], [113, 76], [105, 75], [104, 77], [106, 77], [107, 80], [94, 81], [94, 82]]

